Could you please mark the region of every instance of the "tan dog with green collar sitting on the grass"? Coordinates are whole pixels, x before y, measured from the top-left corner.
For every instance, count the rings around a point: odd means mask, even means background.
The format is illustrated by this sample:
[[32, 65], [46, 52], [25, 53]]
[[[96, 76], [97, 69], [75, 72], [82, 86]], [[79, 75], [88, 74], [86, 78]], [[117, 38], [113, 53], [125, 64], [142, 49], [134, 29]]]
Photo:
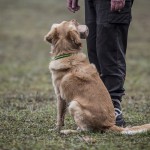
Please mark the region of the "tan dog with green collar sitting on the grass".
[[80, 25], [76, 20], [71, 20], [54, 24], [45, 36], [45, 40], [52, 45], [53, 61], [50, 62], [49, 69], [57, 95], [57, 129], [60, 130], [64, 125], [68, 105], [69, 112], [81, 131], [113, 130], [123, 134], [135, 134], [150, 130], [150, 124], [132, 128], [115, 125], [112, 100], [95, 66], [81, 52], [80, 35]]

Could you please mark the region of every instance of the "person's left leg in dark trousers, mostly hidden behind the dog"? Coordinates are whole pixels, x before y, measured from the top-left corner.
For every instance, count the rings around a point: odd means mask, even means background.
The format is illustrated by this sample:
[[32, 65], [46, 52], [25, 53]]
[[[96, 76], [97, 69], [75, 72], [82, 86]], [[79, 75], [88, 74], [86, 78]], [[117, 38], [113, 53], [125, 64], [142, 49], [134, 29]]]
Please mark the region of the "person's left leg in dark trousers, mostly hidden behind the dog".
[[100, 66], [96, 52], [96, 10], [93, 0], [85, 0], [85, 23], [89, 28], [87, 50], [90, 63], [95, 64], [100, 73]]

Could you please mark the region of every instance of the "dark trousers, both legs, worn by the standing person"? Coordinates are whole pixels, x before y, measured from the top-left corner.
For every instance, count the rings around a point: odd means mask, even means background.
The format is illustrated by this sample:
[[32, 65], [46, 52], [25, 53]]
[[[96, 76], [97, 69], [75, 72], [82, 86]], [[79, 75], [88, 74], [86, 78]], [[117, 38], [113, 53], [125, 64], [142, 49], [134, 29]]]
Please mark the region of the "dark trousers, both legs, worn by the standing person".
[[132, 0], [120, 12], [110, 10], [110, 0], [85, 0], [89, 28], [88, 57], [95, 64], [112, 99], [121, 101], [126, 76], [126, 48]]

